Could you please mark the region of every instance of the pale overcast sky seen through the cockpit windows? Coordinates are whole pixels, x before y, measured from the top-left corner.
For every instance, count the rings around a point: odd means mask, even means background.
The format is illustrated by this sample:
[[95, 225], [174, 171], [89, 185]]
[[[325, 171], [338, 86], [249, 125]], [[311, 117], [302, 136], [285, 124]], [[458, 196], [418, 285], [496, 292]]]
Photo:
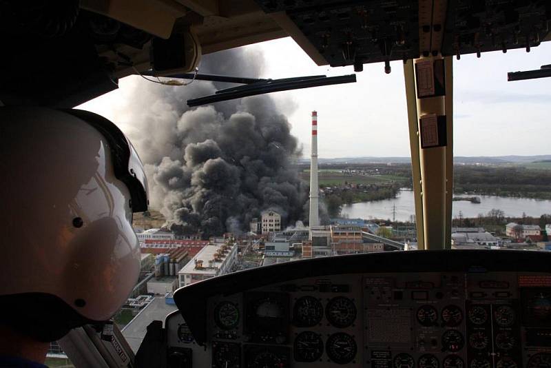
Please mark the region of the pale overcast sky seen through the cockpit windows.
[[[290, 38], [245, 48], [264, 53], [264, 78], [353, 73], [351, 67], [318, 67]], [[550, 63], [551, 42], [530, 53], [521, 49], [454, 59], [455, 156], [551, 154], [551, 79], [507, 81], [507, 72]], [[304, 156], [310, 154], [312, 110], [318, 111], [320, 157], [410, 156], [402, 61], [391, 65], [391, 74], [384, 74], [382, 63], [364, 65], [357, 83], [272, 94], [282, 110], [291, 111], [287, 117]], [[149, 82], [129, 76], [118, 90], [81, 108], [117, 123], [122, 101], [132, 98], [141, 83]]]

